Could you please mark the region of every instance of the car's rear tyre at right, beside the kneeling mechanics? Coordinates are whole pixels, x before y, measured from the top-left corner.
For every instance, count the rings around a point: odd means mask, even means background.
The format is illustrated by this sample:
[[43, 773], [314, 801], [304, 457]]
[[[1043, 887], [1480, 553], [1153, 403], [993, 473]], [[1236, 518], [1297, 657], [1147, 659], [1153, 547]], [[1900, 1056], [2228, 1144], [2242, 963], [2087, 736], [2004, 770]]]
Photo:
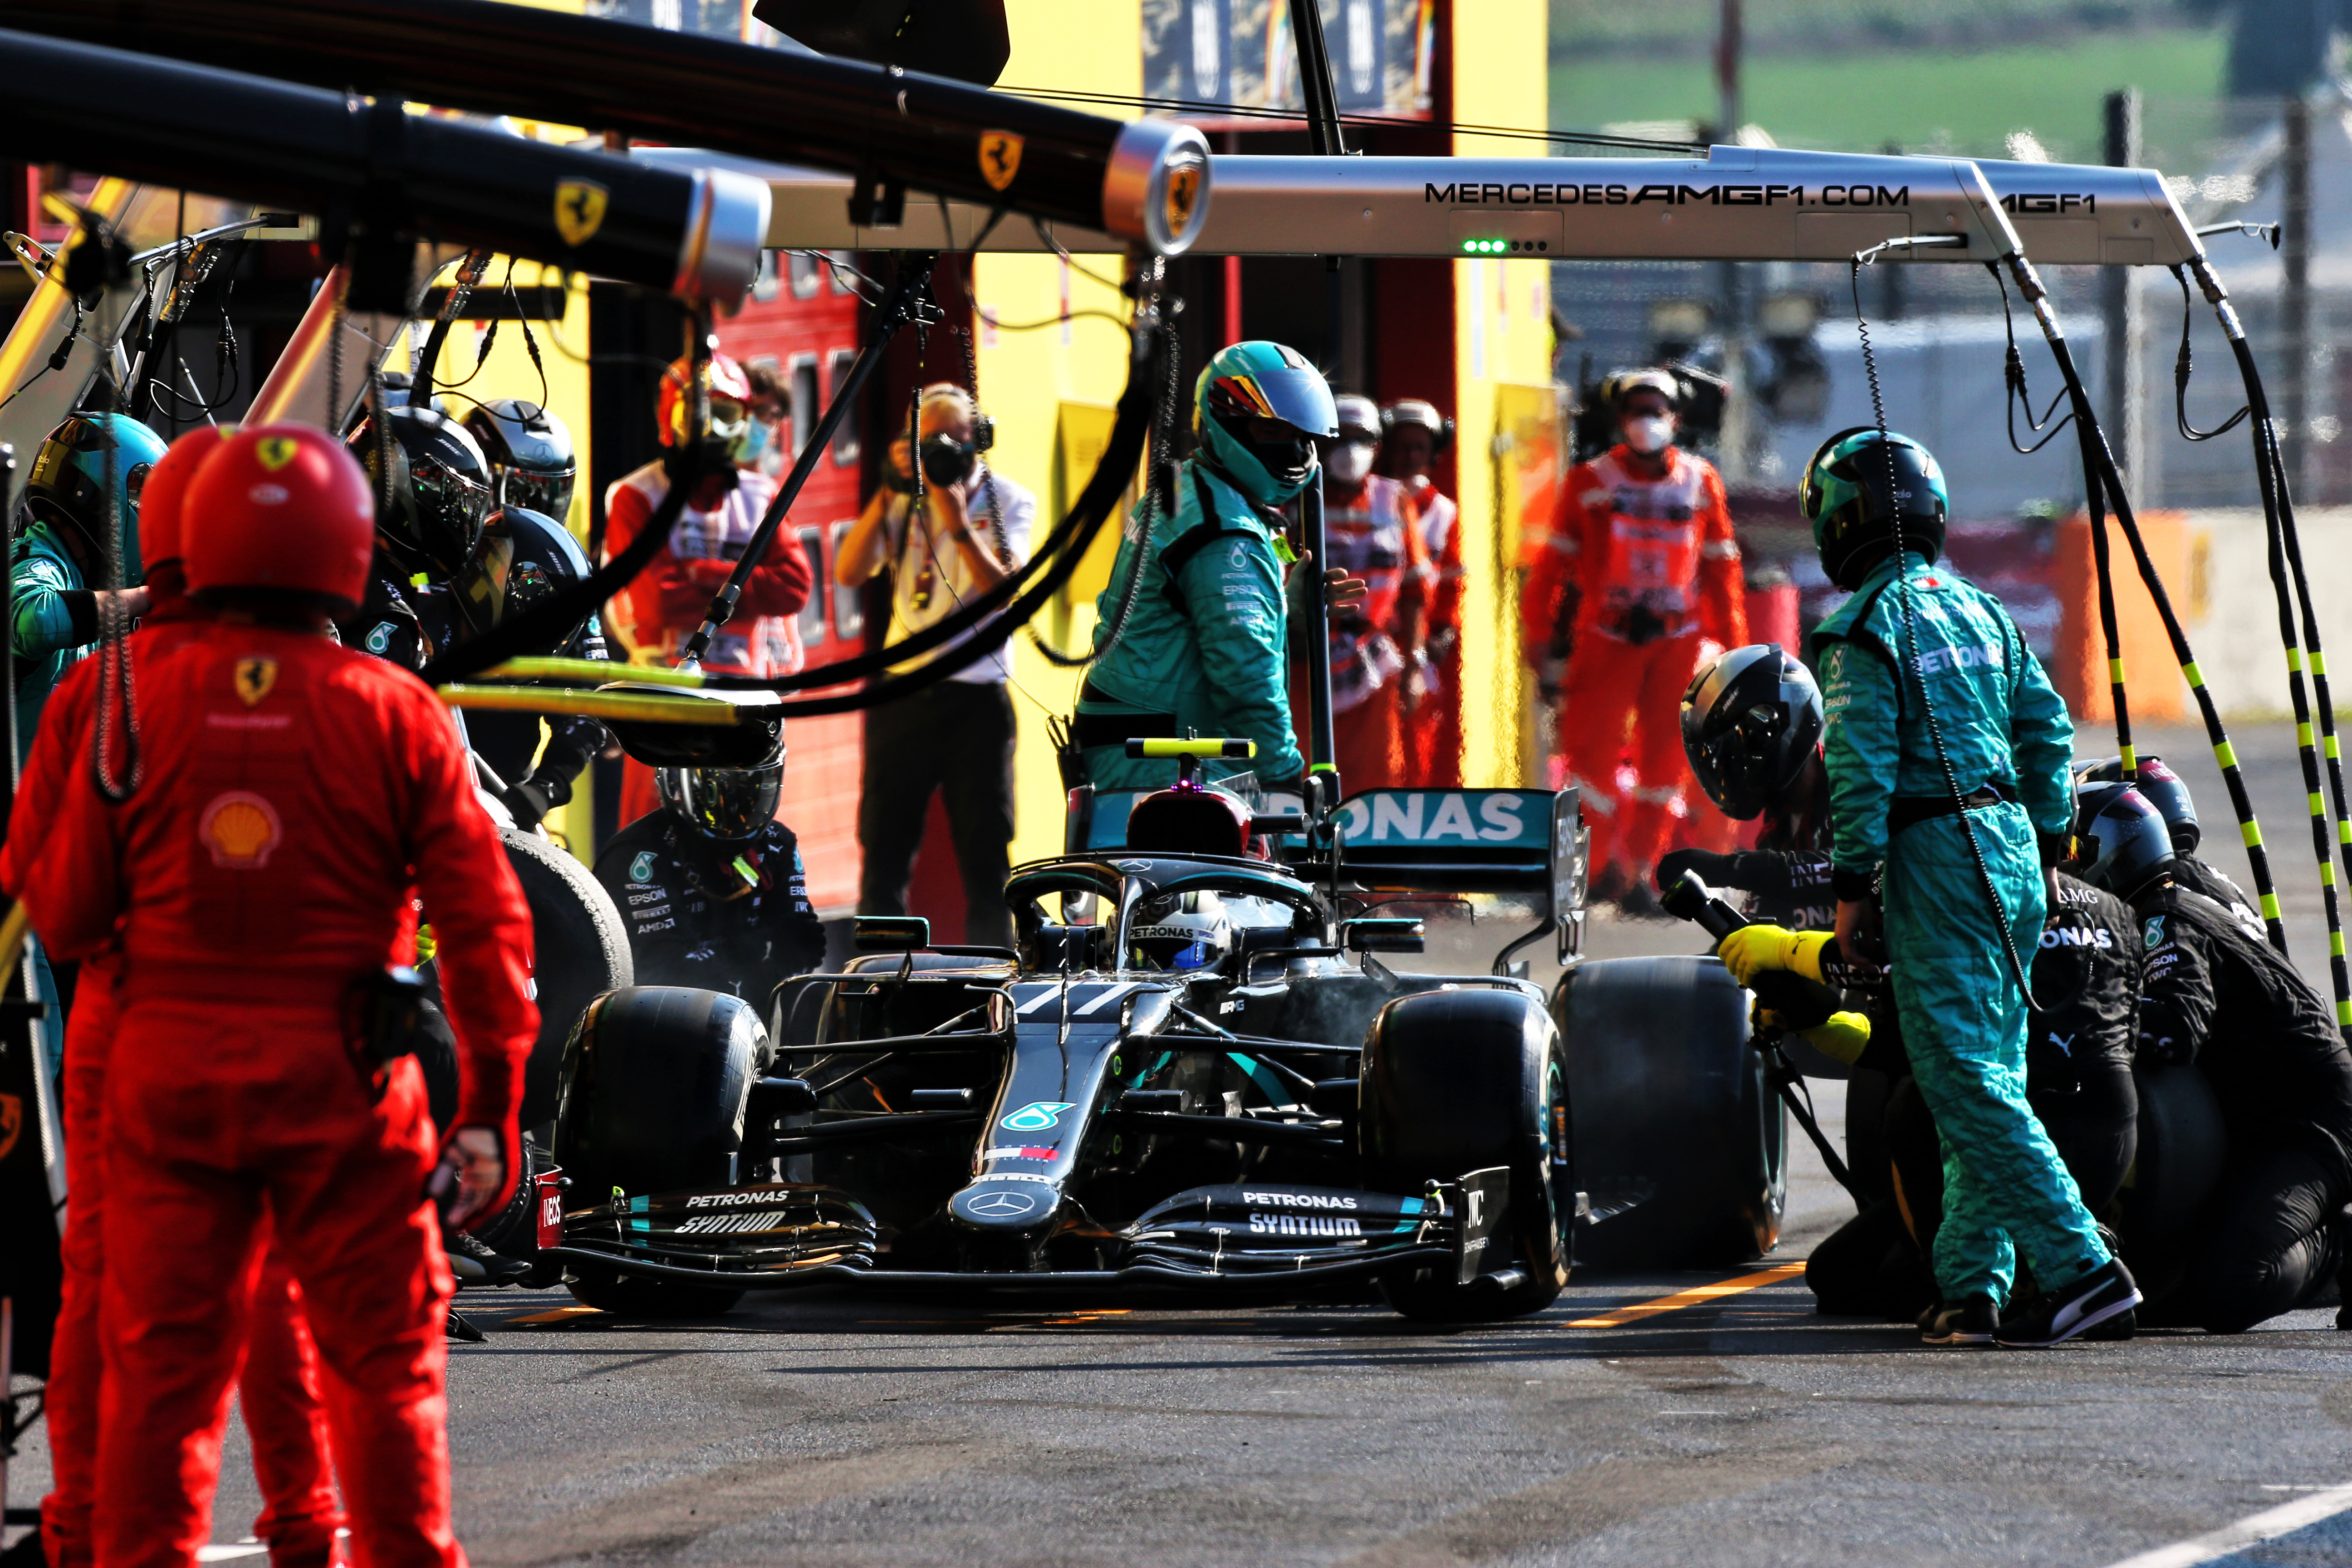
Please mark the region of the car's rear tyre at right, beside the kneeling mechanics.
[[1576, 1168], [1599, 1215], [1578, 1262], [1738, 1265], [1780, 1241], [1788, 1112], [1722, 959], [1592, 959], [1559, 980]]

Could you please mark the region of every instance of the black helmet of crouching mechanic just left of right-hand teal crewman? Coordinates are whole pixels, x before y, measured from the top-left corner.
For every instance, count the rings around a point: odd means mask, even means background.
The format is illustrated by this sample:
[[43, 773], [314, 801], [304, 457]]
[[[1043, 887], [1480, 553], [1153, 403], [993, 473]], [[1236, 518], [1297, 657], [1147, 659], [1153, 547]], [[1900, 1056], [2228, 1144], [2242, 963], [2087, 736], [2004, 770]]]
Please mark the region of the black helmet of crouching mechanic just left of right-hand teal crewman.
[[1771, 806], [1820, 745], [1820, 686], [1778, 642], [1731, 649], [1682, 693], [1682, 752], [1724, 816]]

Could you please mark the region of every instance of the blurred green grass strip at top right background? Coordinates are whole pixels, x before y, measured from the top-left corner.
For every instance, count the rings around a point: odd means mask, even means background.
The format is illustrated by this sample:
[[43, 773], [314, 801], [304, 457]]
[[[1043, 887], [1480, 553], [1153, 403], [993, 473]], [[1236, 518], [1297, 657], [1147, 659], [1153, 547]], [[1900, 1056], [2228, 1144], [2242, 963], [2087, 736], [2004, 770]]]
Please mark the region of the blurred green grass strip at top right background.
[[[2100, 101], [2114, 87], [2147, 94], [2157, 167], [2201, 162], [2213, 136], [2227, 38], [2218, 28], [2065, 33], [2006, 49], [1860, 49], [1750, 56], [1745, 118], [1785, 148], [1950, 150], [2004, 158], [2030, 129], [2060, 162], [2100, 162]], [[1552, 125], [1597, 129], [1625, 120], [1712, 120], [1708, 59], [1592, 52], [1552, 61]]]

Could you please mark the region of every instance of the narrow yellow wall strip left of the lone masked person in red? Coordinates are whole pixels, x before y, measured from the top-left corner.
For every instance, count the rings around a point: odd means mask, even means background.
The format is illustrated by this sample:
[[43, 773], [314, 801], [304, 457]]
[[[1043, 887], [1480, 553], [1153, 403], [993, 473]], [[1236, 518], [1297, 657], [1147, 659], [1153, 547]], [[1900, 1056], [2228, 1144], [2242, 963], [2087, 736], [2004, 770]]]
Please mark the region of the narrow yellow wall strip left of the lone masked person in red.
[[[1454, 0], [1454, 115], [1479, 125], [1545, 125], [1543, 0]], [[1456, 155], [1524, 158], [1524, 141], [1454, 136]], [[1211, 195], [1211, 200], [1216, 200]], [[1496, 491], [1496, 404], [1503, 386], [1552, 378], [1550, 266], [1454, 263], [1454, 397], [1463, 529], [1463, 712], [1472, 785], [1519, 778], [1517, 517]], [[1484, 698], [1484, 701], [1479, 701]]]

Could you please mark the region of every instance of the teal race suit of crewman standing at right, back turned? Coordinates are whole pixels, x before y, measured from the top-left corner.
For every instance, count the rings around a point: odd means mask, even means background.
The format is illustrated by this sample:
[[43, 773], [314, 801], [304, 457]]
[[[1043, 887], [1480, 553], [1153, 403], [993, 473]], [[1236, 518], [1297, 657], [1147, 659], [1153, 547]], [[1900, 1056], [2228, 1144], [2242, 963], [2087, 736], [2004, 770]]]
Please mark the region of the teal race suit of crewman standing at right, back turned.
[[[2025, 1105], [2025, 997], [1950, 806], [1922, 686], [1962, 792], [2002, 797], [1971, 809], [1969, 823], [2027, 964], [2046, 912], [2034, 832], [2063, 835], [2072, 823], [2074, 729], [1992, 595], [1915, 550], [1903, 559], [1900, 588], [1886, 555], [1816, 632], [1835, 884], [1839, 898], [1863, 898], [1872, 867], [1886, 865], [1886, 947], [1903, 1041], [1943, 1140], [1936, 1284], [1945, 1300], [1987, 1295], [1999, 1305], [2018, 1251], [2037, 1281], [2060, 1286], [2105, 1265], [2107, 1248]], [[1917, 644], [1898, 595], [1910, 599]], [[1912, 672], [1898, 679], [1898, 668]]]

